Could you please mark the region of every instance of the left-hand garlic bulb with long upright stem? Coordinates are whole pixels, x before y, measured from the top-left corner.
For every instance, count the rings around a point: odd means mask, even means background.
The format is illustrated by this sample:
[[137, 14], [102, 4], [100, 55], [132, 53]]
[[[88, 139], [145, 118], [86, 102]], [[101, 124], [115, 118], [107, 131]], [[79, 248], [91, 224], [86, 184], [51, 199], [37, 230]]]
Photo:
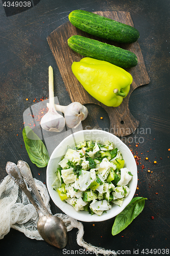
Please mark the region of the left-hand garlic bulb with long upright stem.
[[54, 103], [54, 77], [53, 68], [48, 68], [49, 103], [48, 112], [42, 117], [40, 125], [42, 129], [49, 132], [61, 132], [65, 126], [65, 119], [57, 113]]

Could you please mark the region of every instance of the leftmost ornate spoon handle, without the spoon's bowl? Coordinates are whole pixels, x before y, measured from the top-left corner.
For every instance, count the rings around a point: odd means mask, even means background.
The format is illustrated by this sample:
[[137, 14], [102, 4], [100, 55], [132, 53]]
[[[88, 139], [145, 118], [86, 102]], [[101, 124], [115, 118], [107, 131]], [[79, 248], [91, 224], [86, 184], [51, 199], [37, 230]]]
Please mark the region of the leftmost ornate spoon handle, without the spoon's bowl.
[[34, 201], [30, 191], [28, 190], [25, 182], [23, 181], [23, 178], [19, 172], [19, 169], [17, 167], [17, 165], [15, 163], [12, 162], [7, 162], [6, 165], [6, 172], [9, 176], [11, 176], [11, 178], [16, 182], [16, 184], [22, 189], [22, 191], [26, 194], [26, 196], [28, 197], [28, 199], [30, 200], [30, 202], [34, 205], [38, 216], [42, 216], [42, 212], [40, 211], [38, 205], [36, 204], [36, 202]]

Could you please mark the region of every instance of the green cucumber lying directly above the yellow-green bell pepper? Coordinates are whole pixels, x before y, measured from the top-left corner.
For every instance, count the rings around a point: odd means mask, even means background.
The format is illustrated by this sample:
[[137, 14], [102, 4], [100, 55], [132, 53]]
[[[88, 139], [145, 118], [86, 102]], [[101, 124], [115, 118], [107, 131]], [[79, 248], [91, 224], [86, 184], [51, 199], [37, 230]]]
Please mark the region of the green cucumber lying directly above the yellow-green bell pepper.
[[105, 60], [123, 69], [137, 65], [137, 56], [133, 52], [81, 35], [69, 37], [68, 46], [84, 57]]

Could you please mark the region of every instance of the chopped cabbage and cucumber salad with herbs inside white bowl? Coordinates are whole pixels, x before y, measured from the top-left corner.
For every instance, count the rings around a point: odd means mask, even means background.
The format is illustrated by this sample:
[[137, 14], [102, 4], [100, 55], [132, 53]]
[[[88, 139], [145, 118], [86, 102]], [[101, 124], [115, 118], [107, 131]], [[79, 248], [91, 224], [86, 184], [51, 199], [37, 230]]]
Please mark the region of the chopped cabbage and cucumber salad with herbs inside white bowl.
[[76, 211], [102, 215], [113, 204], [122, 206], [132, 179], [121, 152], [112, 142], [85, 141], [68, 148], [52, 186]]

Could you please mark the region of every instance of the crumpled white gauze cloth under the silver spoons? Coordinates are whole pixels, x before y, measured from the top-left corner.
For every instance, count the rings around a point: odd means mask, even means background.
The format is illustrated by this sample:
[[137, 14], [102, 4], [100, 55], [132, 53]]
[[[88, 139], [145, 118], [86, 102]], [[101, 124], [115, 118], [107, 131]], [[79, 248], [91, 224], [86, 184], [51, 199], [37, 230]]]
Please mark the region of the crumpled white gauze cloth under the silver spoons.
[[[52, 213], [49, 204], [50, 197], [46, 186], [41, 181], [34, 180], [45, 206]], [[31, 191], [30, 188], [28, 189]], [[37, 202], [34, 195], [32, 196]], [[0, 212], [0, 239], [4, 238], [10, 231], [10, 228], [14, 228], [25, 233], [28, 238], [43, 240], [37, 229], [38, 214], [34, 206], [9, 175], [0, 183]], [[64, 214], [56, 214], [55, 216], [60, 217], [64, 221], [67, 231], [72, 230], [72, 228], [78, 228], [77, 243], [79, 246], [93, 251], [96, 255], [117, 255], [115, 251], [105, 250], [104, 248], [86, 243], [83, 240], [84, 228], [81, 222]]]

